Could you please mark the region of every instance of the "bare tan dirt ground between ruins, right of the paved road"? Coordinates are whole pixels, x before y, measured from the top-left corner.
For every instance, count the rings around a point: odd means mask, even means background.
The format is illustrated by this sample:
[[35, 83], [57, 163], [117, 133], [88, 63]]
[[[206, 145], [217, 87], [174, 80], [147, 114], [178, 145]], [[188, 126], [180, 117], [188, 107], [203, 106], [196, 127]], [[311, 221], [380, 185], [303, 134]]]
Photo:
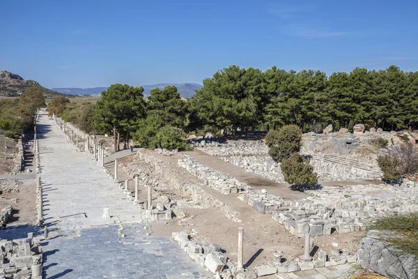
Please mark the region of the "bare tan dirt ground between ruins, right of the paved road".
[[[266, 189], [268, 193], [274, 193], [274, 195], [286, 197], [287, 199], [299, 199], [305, 196], [303, 193], [291, 191], [284, 184], [274, 183], [258, 174], [245, 172], [244, 169], [238, 166], [219, 160], [214, 156], [208, 156], [201, 151], [189, 151], [186, 154], [198, 159], [204, 165], [208, 165], [218, 171], [222, 170], [229, 176], [249, 183], [254, 188]], [[153, 155], [162, 160], [167, 167], [175, 169], [178, 176], [182, 177], [184, 181], [192, 181], [199, 184], [206, 193], [226, 204], [230, 210], [229, 212], [235, 213], [235, 217], [242, 221], [238, 223], [226, 218], [225, 211], [222, 208], [181, 209], [185, 213], [186, 218], [181, 220], [174, 218], [167, 223], [152, 223], [153, 236], [171, 236], [172, 232], [178, 231], [187, 231], [191, 235], [203, 236], [208, 241], [219, 244], [226, 251], [226, 255], [236, 262], [238, 228], [243, 227], [245, 238], [244, 256], [247, 266], [259, 266], [272, 261], [274, 259], [272, 254], [276, 251], [283, 252], [286, 259], [294, 259], [303, 254], [304, 239], [290, 234], [284, 228], [284, 225], [274, 221], [270, 214], [262, 214], [256, 211], [238, 199], [237, 193], [222, 195], [208, 186], [203, 186], [203, 181], [200, 181], [196, 176], [192, 176], [177, 165], [178, 159], [182, 158], [182, 156], [162, 156], [157, 155], [157, 153], [153, 153]], [[123, 160], [132, 162], [132, 160], [138, 159], [136, 156], [130, 156]], [[109, 170], [111, 169], [112, 167], [109, 166]], [[332, 236], [315, 237], [313, 240], [315, 245], [327, 252], [330, 252], [332, 243], [338, 243], [340, 248], [353, 250], [359, 235], [358, 233], [340, 235], [334, 232]]]

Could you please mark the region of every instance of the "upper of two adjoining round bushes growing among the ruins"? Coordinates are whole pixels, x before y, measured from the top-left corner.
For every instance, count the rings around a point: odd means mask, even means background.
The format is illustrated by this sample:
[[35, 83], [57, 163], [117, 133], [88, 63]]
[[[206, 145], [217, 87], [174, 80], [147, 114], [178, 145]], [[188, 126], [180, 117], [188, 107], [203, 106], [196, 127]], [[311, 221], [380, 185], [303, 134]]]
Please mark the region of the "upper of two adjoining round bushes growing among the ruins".
[[283, 126], [280, 130], [270, 130], [265, 143], [270, 147], [269, 154], [276, 162], [281, 162], [300, 151], [302, 131], [296, 125]]

